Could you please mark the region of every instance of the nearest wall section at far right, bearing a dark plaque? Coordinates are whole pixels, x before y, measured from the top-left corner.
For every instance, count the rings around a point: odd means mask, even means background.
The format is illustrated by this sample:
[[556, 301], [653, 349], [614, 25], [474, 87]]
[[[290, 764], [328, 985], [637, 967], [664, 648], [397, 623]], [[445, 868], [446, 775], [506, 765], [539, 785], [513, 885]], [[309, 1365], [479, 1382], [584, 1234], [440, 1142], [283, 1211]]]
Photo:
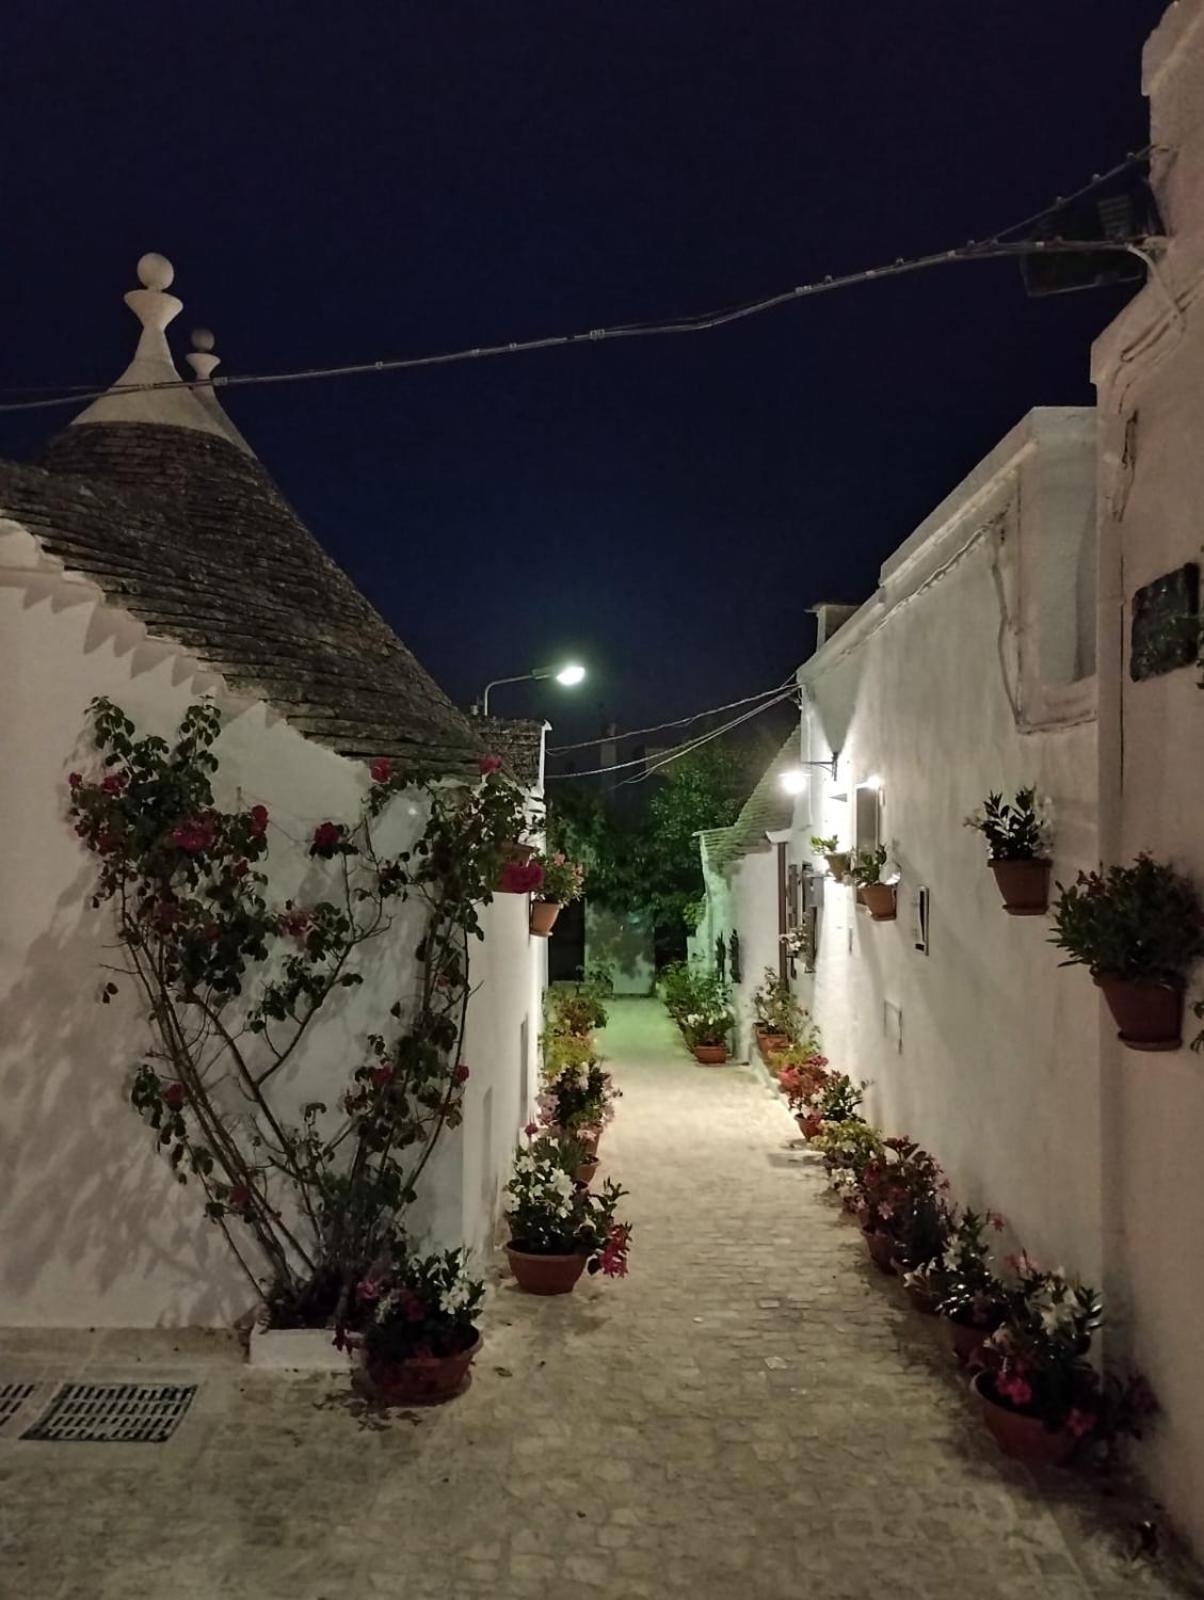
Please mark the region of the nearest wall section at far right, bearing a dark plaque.
[[[1170, 6], [1146, 48], [1154, 186], [1170, 245], [1094, 352], [1100, 456], [1102, 853], [1140, 850], [1204, 888], [1201, 669], [1129, 678], [1134, 592], [1204, 555], [1204, 6]], [[1172, 306], [1174, 299], [1174, 306]], [[1193, 995], [1204, 992], [1194, 974]], [[1188, 1024], [1193, 1018], [1188, 1016]], [[1190, 1027], [1188, 1038], [1199, 1024]], [[1108, 1286], [1164, 1416], [1156, 1486], [1204, 1552], [1204, 1058], [1143, 1056], [1103, 1024]]]

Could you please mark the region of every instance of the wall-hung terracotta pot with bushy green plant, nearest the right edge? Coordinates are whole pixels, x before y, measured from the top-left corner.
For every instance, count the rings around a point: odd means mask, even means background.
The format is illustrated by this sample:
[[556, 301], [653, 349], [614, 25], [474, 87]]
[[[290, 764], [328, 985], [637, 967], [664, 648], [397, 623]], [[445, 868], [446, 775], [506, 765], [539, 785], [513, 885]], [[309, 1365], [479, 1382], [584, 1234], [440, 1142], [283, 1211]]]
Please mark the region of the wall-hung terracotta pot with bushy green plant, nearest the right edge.
[[1204, 909], [1194, 885], [1142, 854], [1129, 867], [1079, 872], [1058, 883], [1052, 942], [1063, 966], [1086, 966], [1130, 1050], [1183, 1043], [1186, 971], [1204, 954]]

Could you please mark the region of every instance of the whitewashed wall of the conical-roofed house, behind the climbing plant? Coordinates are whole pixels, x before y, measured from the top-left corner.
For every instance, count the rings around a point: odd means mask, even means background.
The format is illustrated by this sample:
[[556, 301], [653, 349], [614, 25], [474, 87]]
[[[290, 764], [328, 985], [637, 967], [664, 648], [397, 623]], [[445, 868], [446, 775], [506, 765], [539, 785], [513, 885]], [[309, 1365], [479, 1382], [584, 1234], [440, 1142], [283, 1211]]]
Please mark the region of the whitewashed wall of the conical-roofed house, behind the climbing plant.
[[[66, 773], [88, 768], [82, 734], [93, 694], [109, 694], [139, 730], [170, 736], [186, 706], [215, 690], [229, 718], [219, 798], [267, 806], [280, 894], [323, 882], [328, 869], [309, 861], [307, 837], [327, 816], [355, 814], [367, 773], [149, 640], [3, 520], [0, 682], [0, 1325], [226, 1323], [247, 1307], [247, 1286], [199, 1214], [199, 1189], [171, 1179], [126, 1101], [147, 1040], [134, 995], [123, 986], [110, 1006], [96, 1000], [112, 922], [86, 904], [94, 861], [64, 816]], [[383, 838], [384, 848], [402, 848], [421, 829], [419, 803], [399, 798], [387, 822], [397, 837]], [[365, 984], [315, 1024], [290, 1069], [291, 1104], [333, 1098], [362, 1059], [365, 1030], [405, 995], [415, 917], [402, 910], [387, 938], [367, 947]], [[466, 1050], [466, 1122], [445, 1134], [429, 1192], [435, 1234], [477, 1245], [496, 1213], [500, 1163], [525, 1120], [543, 981], [525, 896], [500, 898], [487, 922], [488, 941], [474, 950], [482, 989]]]

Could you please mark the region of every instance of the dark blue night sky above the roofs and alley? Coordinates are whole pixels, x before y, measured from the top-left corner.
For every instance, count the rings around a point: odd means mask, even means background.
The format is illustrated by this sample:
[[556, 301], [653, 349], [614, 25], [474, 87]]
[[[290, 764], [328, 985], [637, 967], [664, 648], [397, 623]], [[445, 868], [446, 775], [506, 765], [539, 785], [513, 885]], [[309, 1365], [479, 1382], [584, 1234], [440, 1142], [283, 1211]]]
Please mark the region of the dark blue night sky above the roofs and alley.
[[[672, 317], [983, 237], [1146, 141], [1162, 0], [94, 0], [0, 22], [0, 382], [109, 382], [134, 261], [224, 371]], [[873, 21], [871, 21], [873, 14]], [[1119, 291], [1013, 262], [693, 338], [232, 392], [443, 686], [564, 738], [783, 678], [1033, 405], [1087, 403]], [[183, 365], [183, 362], [181, 362]], [[72, 413], [0, 418], [32, 454]]]

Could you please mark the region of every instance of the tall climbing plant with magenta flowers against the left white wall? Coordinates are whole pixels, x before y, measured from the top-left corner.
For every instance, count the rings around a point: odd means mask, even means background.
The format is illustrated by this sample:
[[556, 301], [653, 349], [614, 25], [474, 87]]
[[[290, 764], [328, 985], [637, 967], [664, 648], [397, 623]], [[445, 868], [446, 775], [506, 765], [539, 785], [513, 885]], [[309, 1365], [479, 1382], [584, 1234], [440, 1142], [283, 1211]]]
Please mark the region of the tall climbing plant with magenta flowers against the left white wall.
[[[200, 1184], [277, 1320], [327, 1322], [460, 1122], [469, 941], [522, 832], [522, 794], [488, 758], [477, 784], [376, 760], [359, 814], [312, 830], [322, 893], [277, 901], [266, 806], [227, 810], [215, 794], [218, 707], [189, 707], [173, 742], [139, 736], [109, 699], [90, 714], [101, 765], [70, 774], [69, 811], [98, 862], [91, 904], [115, 912], [114, 973], [150, 1026], [130, 1099], [176, 1178]], [[402, 790], [421, 795], [426, 826], [387, 856], [375, 830]], [[423, 912], [411, 981], [330, 1099], [288, 1120], [282, 1070], [319, 1013], [362, 982], [363, 946], [389, 933], [403, 901]], [[115, 994], [107, 981], [101, 998]]]

